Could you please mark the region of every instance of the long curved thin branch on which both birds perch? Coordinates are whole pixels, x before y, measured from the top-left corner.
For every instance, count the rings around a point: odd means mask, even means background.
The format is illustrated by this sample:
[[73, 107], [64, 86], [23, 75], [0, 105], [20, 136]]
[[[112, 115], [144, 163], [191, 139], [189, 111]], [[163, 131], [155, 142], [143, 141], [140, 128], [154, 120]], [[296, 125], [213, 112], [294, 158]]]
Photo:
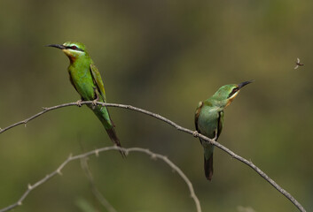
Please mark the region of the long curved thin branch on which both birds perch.
[[[81, 104], [92, 104], [92, 101], [81, 102]], [[306, 210], [301, 206], [301, 204], [297, 200], [295, 200], [290, 193], [288, 193], [281, 186], [278, 186], [278, 184], [273, 179], [271, 179], [260, 168], [258, 168], [256, 165], [254, 165], [254, 163], [249, 162], [245, 158], [243, 158], [242, 156], [239, 156], [239, 155], [235, 154], [229, 148], [225, 148], [222, 144], [216, 142], [215, 140], [211, 140], [211, 139], [207, 138], [206, 136], [198, 133], [197, 131], [192, 131], [192, 130], [184, 128], [184, 127], [182, 127], [180, 125], [177, 125], [175, 122], [169, 120], [168, 118], [162, 117], [159, 114], [153, 113], [153, 112], [148, 111], [148, 110], [139, 109], [139, 108], [136, 108], [136, 107], [131, 106], [131, 105], [117, 104], [117, 103], [97, 102], [97, 104], [98, 105], [102, 105], [104, 107], [106, 106], [106, 107], [122, 108], [122, 109], [134, 110], [134, 111], [137, 111], [137, 112], [140, 112], [140, 113], [144, 113], [145, 115], [148, 115], [148, 116], [160, 119], [161, 121], [163, 121], [165, 123], [168, 123], [168, 125], [174, 126], [179, 131], [182, 131], [184, 133], [192, 134], [194, 137], [201, 138], [202, 140], [207, 140], [207, 142], [210, 142], [211, 144], [215, 145], [217, 148], [222, 149], [228, 155], [231, 155], [233, 158], [239, 160], [242, 163], [245, 163], [247, 166], [249, 166], [250, 168], [255, 170], [262, 178], [264, 178], [266, 181], [268, 181], [271, 186], [275, 187], [278, 190], [279, 193], [282, 193], [284, 196], [286, 196], [286, 198], [289, 201], [292, 201], [293, 205], [295, 207], [297, 207], [301, 212], [306, 212]], [[13, 124], [13, 125], [9, 125], [9, 126], [5, 127], [4, 129], [1, 129], [0, 133], [4, 133], [5, 131], [7, 131], [7, 130], [9, 130], [12, 127], [15, 127], [17, 125], [26, 125], [28, 121], [33, 120], [35, 117], [39, 117], [39, 116], [43, 115], [43, 113], [46, 113], [46, 112], [48, 112], [50, 110], [56, 110], [56, 109], [59, 109], [59, 108], [63, 108], [63, 107], [67, 107], [67, 106], [73, 106], [73, 105], [77, 105], [77, 103], [76, 102], [70, 102], [70, 103], [60, 104], [60, 105], [57, 105], [57, 106], [54, 106], [54, 107], [51, 107], [51, 108], [43, 108], [43, 111], [35, 114], [34, 116], [28, 117], [27, 119], [25, 119], [23, 121], [20, 121], [18, 123]]]

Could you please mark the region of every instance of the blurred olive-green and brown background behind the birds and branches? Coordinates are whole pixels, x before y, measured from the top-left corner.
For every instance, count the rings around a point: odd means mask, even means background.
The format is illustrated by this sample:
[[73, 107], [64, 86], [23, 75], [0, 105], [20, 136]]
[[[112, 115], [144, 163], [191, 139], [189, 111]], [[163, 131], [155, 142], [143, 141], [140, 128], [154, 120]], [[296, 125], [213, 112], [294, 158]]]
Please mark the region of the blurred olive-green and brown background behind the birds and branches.
[[[0, 126], [42, 107], [79, 99], [68, 59], [46, 44], [86, 44], [108, 102], [160, 113], [194, 129], [194, 110], [218, 87], [248, 79], [225, 110], [219, 139], [313, 208], [313, 2], [264, 1], [0, 1]], [[294, 70], [296, 58], [304, 66]], [[203, 211], [297, 211], [243, 163], [215, 150], [208, 182], [198, 139], [159, 120], [110, 109], [123, 147], [168, 155], [191, 179]], [[86, 107], [51, 111], [0, 134], [0, 208], [57, 169], [70, 153], [112, 145]], [[117, 211], [195, 211], [184, 181], [146, 155], [90, 157], [98, 189]], [[30, 193], [14, 211], [105, 211], [80, 163]]]

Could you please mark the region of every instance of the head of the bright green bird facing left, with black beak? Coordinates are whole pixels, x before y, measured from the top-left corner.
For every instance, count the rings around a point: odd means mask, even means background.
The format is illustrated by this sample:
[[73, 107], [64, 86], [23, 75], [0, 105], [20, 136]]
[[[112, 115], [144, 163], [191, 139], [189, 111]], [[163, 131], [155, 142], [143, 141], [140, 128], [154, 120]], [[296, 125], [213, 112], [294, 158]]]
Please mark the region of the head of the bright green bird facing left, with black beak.
[[79, 57], [88, 56], [85, 45], [83, 45], [82, 42], [65, 42], [62, 45], [51, 44], [48, 45], [48, 47], [62, 49], [62, 51], [70, 59], [71, 63], [74, 62]]

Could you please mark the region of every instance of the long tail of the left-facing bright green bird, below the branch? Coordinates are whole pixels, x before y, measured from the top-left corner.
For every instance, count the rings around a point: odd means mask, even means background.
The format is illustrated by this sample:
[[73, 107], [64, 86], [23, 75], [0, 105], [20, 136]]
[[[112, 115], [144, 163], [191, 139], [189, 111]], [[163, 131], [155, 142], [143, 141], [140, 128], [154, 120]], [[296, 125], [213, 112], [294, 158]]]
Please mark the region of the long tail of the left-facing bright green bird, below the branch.
[[[113, 124], [113, 121], [111, 120], [108, 110], [106, 109], [106, 107], [102, 107], [102, 106], [94, 106], [94, 107], [95, 108], [92, 108], [92, 106], [90, 106], [90, 109], [96, 114], [98, 119], [101, 121], [102, 125], [104, 125], [106, 129], [106, 133], [109, 135], [112, 142], [116, 146], [121, 148], [121, 142], [116, 135], [114, 124]], [[126, 156], [124, 151], [120, 150], [120, 153], [123, 157]]]

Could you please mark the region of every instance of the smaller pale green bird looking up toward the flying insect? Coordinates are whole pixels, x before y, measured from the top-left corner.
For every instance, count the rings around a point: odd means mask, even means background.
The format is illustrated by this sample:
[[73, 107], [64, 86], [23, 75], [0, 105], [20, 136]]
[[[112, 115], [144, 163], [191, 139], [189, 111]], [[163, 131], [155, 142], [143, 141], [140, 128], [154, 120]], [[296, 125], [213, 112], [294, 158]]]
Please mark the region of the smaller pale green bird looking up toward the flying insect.
[[[231, 104], [242, 87], [253, 81], [249, 80], [241, 82], [238, 85], [231, 84], [220, 87], [215, 95], [212, 95], [204, 102], [199, 102], [194, 118], [197, 132], [207, 136], [209, 139], [217, 140], [223, 129], [223, 110]], [[206, 140], [200, 139], [200, 143], [204, 148], [205, 175], [208, 180], [211, 180], [213, 176], [213, 150], [215, 146]]]

